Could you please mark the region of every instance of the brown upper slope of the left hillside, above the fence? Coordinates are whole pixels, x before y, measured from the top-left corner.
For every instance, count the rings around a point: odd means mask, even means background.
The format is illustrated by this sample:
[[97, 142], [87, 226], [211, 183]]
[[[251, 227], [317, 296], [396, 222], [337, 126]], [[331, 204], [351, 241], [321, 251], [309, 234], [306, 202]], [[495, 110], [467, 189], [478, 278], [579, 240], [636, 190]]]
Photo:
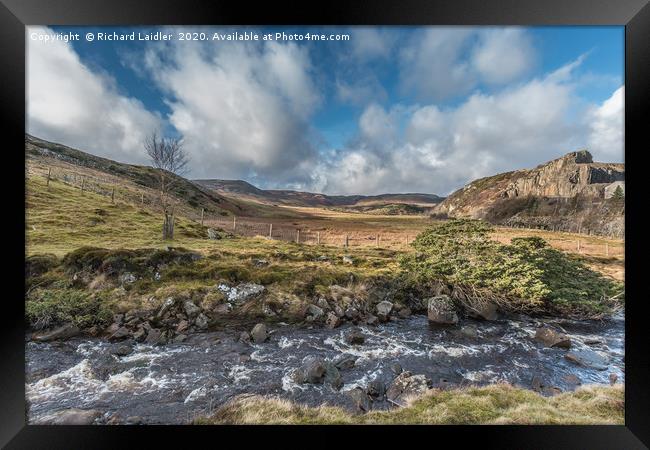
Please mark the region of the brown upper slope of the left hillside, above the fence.
[[[143, 203], [155, 208], [158, 196], [158, 169], [120, 163], [28, 134], [25, 134], [25, 155], [28, 173], [46, 175], [51, 169], [53, 178], [58, 177], [77, 184], [83, 179], [89, 190], [104, 195], [110, 195], [110, 190], [116, 187], [118, 194], [123, 198], [130, 198], [132, 201], [143, 199]], [[177, 211], [188, 217], [198, 217], [201, 209], [204, 209], [206, 217], [296, 217], [296, 213], [292, 211], [233, 200], [181, 176], [168, 176], [174, 180], [171, 194], [176, 199]]]

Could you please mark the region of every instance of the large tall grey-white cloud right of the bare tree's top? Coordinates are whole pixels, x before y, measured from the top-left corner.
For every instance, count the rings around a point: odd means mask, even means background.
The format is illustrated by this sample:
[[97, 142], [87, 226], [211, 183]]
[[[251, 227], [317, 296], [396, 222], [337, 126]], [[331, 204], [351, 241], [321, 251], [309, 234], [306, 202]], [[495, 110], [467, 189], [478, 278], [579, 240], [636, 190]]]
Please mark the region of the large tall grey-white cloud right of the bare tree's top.
[[192, 176], [303, 187], [315, 163], [309, 117], [320, 102], [305, 48], [293, 43], [170, 43], [147, 66], [171, 98]]

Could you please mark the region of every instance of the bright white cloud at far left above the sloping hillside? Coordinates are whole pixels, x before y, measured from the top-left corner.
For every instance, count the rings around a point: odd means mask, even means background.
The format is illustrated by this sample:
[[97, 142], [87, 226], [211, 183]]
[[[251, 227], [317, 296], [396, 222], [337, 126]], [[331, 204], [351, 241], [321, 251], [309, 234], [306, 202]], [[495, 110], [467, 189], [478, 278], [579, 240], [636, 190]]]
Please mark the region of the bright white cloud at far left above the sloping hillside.
[[[29, 27], [30, 33], [51, 33]], [[27, 39], [27, 131], [120, 161], [146, 162], [145, 134], [161, 119], [90, 70], [69, 43]]]

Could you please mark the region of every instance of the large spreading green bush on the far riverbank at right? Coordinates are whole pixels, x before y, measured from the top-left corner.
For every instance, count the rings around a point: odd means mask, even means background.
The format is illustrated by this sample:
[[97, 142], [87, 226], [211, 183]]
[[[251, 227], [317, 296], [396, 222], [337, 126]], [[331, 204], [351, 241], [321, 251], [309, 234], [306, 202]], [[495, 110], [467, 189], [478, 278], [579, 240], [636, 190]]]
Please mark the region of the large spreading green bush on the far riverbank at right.
[[619, 283], [539, 237], [504, 245], [489, 239], [491, 229], [486, 222], [466, 219], [433, 226], [415, 239], [416, 253], [402, 257], [402, 268], [417, 282], [470, 287], [512, 309], [596, 315], [608, 312], [609, 298], [622, 291]]

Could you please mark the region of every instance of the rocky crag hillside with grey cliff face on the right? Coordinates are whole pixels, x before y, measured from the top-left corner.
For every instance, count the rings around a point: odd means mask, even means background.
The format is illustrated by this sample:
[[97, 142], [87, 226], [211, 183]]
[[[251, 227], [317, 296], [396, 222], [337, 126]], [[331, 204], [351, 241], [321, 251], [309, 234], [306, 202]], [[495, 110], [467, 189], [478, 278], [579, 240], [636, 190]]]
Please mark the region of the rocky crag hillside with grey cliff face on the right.
[[434, 214], [622, 237], [625, 202], [606, 198], [605, 188], [624, 180], [623, 164], [594, 162], [581, 150], [533, 169], [472, 181], [440, 203]]

